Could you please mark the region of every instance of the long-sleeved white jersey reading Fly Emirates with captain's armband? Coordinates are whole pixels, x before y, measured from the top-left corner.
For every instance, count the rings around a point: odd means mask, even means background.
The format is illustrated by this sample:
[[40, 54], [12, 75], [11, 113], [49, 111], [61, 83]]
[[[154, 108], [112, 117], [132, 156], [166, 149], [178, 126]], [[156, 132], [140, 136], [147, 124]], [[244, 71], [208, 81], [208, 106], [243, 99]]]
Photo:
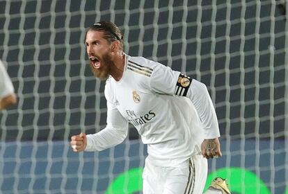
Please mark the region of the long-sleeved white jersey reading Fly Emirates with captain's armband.
[[106, 81], [107, 125], [87, 135], [87, 151], [124, 141], [128, 122], [157, 166], [176, 166], [200, 153], [204, 139], [220, 136], [207, 87], [179, 71], [126, 55], [122, 78]]

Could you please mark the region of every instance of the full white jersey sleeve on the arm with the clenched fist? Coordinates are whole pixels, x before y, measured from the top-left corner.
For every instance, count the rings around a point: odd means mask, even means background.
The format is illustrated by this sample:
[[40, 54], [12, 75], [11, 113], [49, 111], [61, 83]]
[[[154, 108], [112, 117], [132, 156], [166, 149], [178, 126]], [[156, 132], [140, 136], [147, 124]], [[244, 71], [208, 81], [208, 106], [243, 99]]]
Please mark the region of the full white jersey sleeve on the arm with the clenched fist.
[[86, 151], [101, 151], [122, 143], [128, 134], [128, 122], [113, 104], [109, 90], [105, 89], [107, 100], [107, 125], [95, 134], [87, 135]]

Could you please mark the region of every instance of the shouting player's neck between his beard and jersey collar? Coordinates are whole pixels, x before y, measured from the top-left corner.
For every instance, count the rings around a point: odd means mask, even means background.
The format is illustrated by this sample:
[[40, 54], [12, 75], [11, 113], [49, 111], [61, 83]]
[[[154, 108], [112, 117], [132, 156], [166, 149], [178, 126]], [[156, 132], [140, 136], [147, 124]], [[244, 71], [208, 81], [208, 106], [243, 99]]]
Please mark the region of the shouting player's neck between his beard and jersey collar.
[[125, 68], [125, 54], [119, 53], [118, 55], [116, 55], [113, 60], [113, 64], [114, 68], [110, 75], [114, 78], [114, 80], [119, 81], [123, 76]]

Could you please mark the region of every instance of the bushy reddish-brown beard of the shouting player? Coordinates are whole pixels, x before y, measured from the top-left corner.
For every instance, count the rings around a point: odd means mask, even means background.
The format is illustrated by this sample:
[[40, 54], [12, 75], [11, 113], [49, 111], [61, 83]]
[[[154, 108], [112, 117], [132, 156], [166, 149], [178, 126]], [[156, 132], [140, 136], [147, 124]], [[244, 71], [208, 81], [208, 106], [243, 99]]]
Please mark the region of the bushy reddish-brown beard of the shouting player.
[[107, 80], [107, 78], [109, 78], [111, 69], [113, 67], [113, 62], [111, 60], [111, 57], [109, 53], [106, 53], [103, 55], [102, 58], [98, 58], [98, 59], [100, 60], [101, 67], [99, 69], [95, 69], [93, 67], [92, 62], [89, 62], [90, 69], [96, 78], [99, 78], [100, 80]]

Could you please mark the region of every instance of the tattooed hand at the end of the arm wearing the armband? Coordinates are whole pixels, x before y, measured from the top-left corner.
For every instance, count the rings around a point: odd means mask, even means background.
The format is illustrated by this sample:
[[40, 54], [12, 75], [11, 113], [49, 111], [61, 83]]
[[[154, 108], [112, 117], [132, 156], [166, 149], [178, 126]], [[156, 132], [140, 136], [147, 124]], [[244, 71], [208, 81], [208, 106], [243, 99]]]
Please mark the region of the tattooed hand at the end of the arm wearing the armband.
[[205, 139], [201, 144], [201, 153], [207, 159], [222, 157], [219, 139]]

